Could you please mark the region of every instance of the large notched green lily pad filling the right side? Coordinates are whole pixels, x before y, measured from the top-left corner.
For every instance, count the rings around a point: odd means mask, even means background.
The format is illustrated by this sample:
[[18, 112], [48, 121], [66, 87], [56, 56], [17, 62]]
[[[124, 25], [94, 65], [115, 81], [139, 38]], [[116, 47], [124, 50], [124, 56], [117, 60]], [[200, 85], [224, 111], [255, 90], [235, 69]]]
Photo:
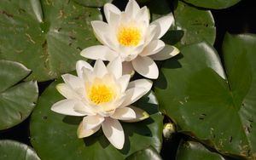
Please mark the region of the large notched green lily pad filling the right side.
[[188, 133], [227, 155], [255, 158], [256, 37], [226, 36], [224, 62], [207, 43], [181, 49], [161, 69], [160, 110]]

